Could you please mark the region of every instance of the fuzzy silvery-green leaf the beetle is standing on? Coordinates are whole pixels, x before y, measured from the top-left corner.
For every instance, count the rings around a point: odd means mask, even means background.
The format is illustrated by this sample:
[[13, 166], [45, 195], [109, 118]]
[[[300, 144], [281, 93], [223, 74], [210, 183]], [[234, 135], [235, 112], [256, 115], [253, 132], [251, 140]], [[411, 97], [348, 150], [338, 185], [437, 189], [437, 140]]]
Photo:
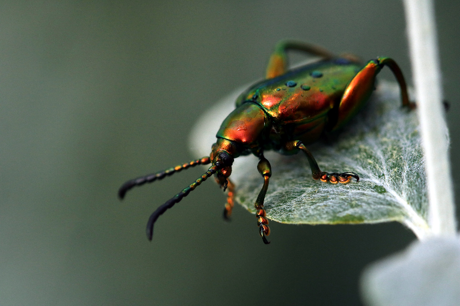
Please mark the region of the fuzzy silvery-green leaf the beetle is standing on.
[[[225, 98], [197, 123], [191, 137], [197, 156], [209, 155], [220, 123], [241, 90]], [[418, 121], [401, 108], [396, 83], [381, 82], [367, 106], [337, 135], [308, 146], [322, 171], [358, 173], [346, 185], [312, 179], [303, 154], [266, 152], [272, 176], [265, 197], [267, 217], [282, 223], [344, 224], [399, 221], [417, 236], [429, 232], [428, 200]], [[257, 158], [235, 160], [230, 179], [236, 200], [255, 213], [263, 179]]]

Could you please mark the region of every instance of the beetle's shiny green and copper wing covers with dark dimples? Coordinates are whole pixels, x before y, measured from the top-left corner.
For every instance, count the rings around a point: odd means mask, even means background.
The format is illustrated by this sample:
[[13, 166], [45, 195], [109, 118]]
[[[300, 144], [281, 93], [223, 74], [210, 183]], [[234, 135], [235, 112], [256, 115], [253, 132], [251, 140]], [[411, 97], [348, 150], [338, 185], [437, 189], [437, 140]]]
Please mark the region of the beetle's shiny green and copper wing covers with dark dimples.
[[279, 124], [304, 124], [326, 117], [338, 104], [360, 65], [345, 59], [308, 64], [252, 86], [237, 100], [259, 104]]

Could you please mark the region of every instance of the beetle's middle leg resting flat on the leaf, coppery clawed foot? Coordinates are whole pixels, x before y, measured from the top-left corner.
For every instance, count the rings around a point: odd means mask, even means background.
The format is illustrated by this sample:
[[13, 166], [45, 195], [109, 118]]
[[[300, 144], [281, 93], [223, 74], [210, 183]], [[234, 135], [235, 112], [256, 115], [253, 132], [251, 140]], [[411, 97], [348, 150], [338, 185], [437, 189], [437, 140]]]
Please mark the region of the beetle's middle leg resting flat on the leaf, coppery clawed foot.
[[308, 159], [308, 163], [310, 164], [311, 168], [311, 175], [313, 176], [314, 180], [321, 180], [321, 182], [331, 182], [332, 184], [342, 183], [347, 184], [350, 182], [350, 178], [354, 177], [356, 182], [359, 181], [359, 176], [355, 172], [343, 172], [343, 173], [328, 173], [321, 171], [316, 163], [315, 158], [311, 154], [311, 152], [307, 149], [307, 147], [302, 143], [300, 140], [294, 140], [287, 142], [285, 145], [285, 149], [287, 151], [300, 149], [305, 153], [305, 156]]

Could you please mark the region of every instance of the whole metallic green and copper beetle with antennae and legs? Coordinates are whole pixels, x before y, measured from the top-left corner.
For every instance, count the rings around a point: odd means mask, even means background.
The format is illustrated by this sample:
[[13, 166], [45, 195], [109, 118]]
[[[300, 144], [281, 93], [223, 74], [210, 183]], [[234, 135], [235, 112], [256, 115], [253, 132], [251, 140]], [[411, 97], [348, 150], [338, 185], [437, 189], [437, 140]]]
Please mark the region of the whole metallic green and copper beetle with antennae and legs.
[[[291, 70], [287, 69], [288, 50], [298, 50], [321, 59]], [[160, 215], [187, 196], [203, 181], [215, 174], [215, 179], [227, 193], [224, 217], [232, 214], [234, 184], [228, 179], [232, 164], [239, 156], [254, 154], [264, 182], [255, 201], [259, 234], [265, 244], [270, 234], [264, 210], [264, 198], [271, 176], [271, 166], [264, 157], [265, 150], [284, 155], [303, 151], [310, 164], [314, 180], [333, 184], [350, 182], [354, 172], [328, 173], [321, 171], [306, 145], [317, 141], [323, 134], [339, 130], [346, 125], [366, 103], [375, 89], [376, 75], [387, 66], [395, 75], [401, 91], [402, 106], [412, 109], [404, 76], [391, 58], [379, 57], [362, 65], [354, 56], [336, 57], [323, 47], [292, 40], [277, 44], [270, 57], [266, 78], [244, 91], [236, 100], [236, 108], [222, 122], [209, 157], [191, 161], [157, 173], [127, 181], [119, 189], [123, 199], [128, 190], [161, 180], [175, 172], [211, 163], [211, 167], [195, 182], [166, 201], [150, 216], [147, 237], [152, 240], [153, 225]]]

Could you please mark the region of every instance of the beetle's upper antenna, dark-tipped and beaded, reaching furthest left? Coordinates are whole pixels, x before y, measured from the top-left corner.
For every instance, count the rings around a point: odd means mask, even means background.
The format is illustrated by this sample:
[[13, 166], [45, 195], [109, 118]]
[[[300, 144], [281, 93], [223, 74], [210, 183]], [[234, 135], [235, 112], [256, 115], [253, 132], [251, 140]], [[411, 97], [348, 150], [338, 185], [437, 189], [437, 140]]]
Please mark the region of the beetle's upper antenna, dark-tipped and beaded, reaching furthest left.
[[129, 180], [128, 182], [123, 184], [122, 187], [120, 187], [120, 189], [118, 190], [118, 196], [120, 197], [120, 199], [123, 199], [125, 197], [126, 192], [128, 192], [128, 190], [130, 190], [131, 188], [133, 188], [135, 186], [142, 186], [145, 183], [152, 183], [152, 182], [154, 182], [156, 180], [162, 180], [166, 176], [170, 176], [175, 172], [179, 172], [179, 171], [181, 171], [183, 169], [194, 167], [196, 165], [207, 165], [210, 162], [211, 162], [211, 159], [209, 158], [209, 156], [206, 156], [206, 157], [203, 157], [201, 159], [197, 159], [196, 161], [191, 161], [191, 162], [183, 164], [183, 165], [178, 165], [178, 166], [168, 168], [168, 169], [163, 170], [163, 171], [159, 171], [159, 172], [156, 172], [156, 173], [152, 173], [152, 174], [144, 175], [144, 176], [141, 176], [141, 177], [137, 177], [137, 179]]

